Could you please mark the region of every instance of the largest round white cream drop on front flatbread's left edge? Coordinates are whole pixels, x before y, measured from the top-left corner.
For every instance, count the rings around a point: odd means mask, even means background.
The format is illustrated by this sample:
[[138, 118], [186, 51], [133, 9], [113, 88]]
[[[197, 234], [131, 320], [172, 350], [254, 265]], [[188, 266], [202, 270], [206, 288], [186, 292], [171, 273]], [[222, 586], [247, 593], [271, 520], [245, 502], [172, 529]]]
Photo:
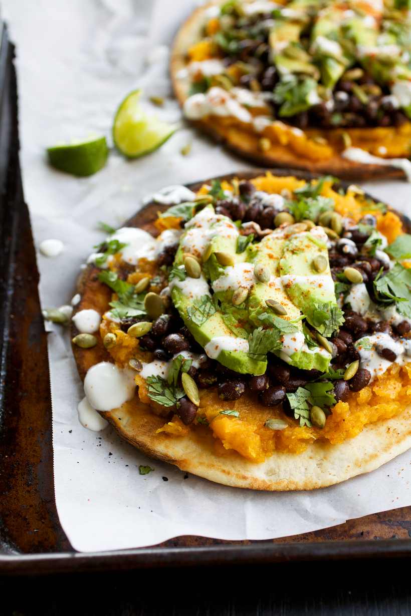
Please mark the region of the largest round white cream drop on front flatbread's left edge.
[[99, 411], [121, 407], [134, 396], [134, 375], [133, 370], [121, 370], [114, 363], [96, 363], [84, 379], [84, 394], [89, 404]]

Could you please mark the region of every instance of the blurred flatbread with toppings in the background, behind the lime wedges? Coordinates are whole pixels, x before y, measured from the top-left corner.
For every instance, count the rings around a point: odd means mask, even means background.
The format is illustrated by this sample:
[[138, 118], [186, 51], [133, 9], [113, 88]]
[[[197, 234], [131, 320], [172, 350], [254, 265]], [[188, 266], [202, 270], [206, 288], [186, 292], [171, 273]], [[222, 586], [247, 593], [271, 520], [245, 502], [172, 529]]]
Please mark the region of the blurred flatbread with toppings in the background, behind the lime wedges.
[[257, 164], [411, 177], [411, 18], [403, 0], [216, 0], [176, 36], [174, 92]]

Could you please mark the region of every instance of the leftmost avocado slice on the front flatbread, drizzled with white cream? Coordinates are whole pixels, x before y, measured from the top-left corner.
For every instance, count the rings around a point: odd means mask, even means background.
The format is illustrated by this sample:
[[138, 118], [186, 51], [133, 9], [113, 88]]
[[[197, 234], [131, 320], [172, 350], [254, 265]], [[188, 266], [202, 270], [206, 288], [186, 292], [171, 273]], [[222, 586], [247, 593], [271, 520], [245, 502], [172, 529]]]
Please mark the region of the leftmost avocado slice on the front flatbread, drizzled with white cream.
[[[207, 211], [205, 211], [207, 210]], [[232, 254], [236, 261], [242, 262], [245, 259], [245, 254], [236, 254], [238, 231], [232, 221], [226, 216], [214, 216], [213, 206], [207, 206], [201, 211], [201, 216], [197, 214], [189, 225], [186, 225], [185, 233], [183, 233], [180, 245], [174, 259], [174, 267], [182, 265], [184, 259], [184, 252], [187, 251], [187, 243], [192, 241], [191, 246], [201, 247], [204, 240], [206, 243], [210, 243], [213, 246], [213, 251], [221, 251], [224, 253]], [[210, 214], [207, 220], [207, 215]], [[211, 217], [212, 216], [212, 217]], [[214, 221], [214, 222], [213, 222]], [[187, 228], [188, 227], [188, 228]], [[193, 230], [197, 230], [196, 236], [189, 236], [189, 233]], [[224, 233], [226, 230], [226, 233]], [[228, 231], [228, 232], [227, 232]], [[207, 240], [207, 236], [209, 239]], [[195, 254], [195, 249], [191, 250]], [[200, 256], [200, 255], [198, 255]], [[174, 279], [171, 283], [171, 298], [173, 304], [179, 311], [179, 314], [184, 320], [185, 325], [189, 328], [193, 334], [195, 340], [202, 347], [205, 347], [213, 339], [219, 338], [219, 346], [221, 345], [232, 347], [235, 346], [237, 341], [237, 348], [222, 349], [215, 357], [219, 363], [231, 370], [242, 374], [262, 375], [266, 371], [267, 362], [261, 362], [255, 359], [251, 359], [248, 353], [241, 350], [243, 346], [242, 342], [238, 342], [238, 339], [247, 338], [248, 332], [242, 327], [238, 327], [237, 330], [230, 328], [226, 323], [227, 314], [230, 314], [230, 309], [235, 309], [233, 304], [228, 302], [229, 296], [232, 296], [232, 292], [227, 291], [224, 296], [218, 293], [218, 297], [224, 299], [221, 310], [217, 310], [213, 315], [208, 317], [204, 323], [198, 325], [190, 318], [187, 309], [193, 306], [193, 302], [201, 298], [204, 295], [211, 295], [208, 285], [206, 285], [206, 278], [211, 278], [211, 282], [216, 280], [221, 274], [224, 274], [224, 267], [218, 264], [214, 254], [211, 255], [201, 278], [186, 278], [184, 283], [178, 279]], [[188, 281], [188, 283], [187, 283]], [[223, 340], [221, 338], [224, 337]], [[213, 344], [213, 343], [211, 343]]]

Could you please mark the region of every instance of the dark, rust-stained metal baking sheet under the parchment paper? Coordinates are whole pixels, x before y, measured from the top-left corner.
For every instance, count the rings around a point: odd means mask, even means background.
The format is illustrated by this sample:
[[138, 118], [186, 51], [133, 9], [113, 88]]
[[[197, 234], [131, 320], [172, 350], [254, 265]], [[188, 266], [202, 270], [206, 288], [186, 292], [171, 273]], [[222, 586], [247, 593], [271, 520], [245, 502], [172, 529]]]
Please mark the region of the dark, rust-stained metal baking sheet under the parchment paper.
[[18, 162], [12, 57], [4, 29], [0, 47], [0, 573], [411, 556], [411, 508], [273, 541], [177, 537], [126, 551], [80, 554], [73, 550], [54, 501], [47, 339]]

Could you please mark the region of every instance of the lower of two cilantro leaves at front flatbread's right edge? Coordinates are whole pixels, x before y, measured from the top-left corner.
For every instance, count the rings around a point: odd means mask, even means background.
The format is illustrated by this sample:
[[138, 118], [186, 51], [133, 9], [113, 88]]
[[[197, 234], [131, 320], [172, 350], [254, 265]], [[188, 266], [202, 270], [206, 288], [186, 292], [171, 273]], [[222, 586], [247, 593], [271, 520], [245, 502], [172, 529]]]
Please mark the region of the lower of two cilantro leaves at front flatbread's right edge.
[[411, 318], [411, 270], [396, 263], [385, 275], [374, 280], [374, 290], [379, 302], [394, 301], [399, 314]]

